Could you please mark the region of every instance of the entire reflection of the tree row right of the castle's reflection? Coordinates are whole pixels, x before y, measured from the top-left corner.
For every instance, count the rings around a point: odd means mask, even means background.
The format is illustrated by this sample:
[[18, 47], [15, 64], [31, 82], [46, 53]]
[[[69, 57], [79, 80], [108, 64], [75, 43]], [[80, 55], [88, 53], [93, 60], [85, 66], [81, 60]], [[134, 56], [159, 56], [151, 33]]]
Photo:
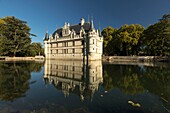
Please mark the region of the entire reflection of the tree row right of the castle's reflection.
[[170, 64], [153, 66], [104, 64], [103, 86], [135, 95], [145, 91], [159, 96], [165, 106], [170, 107]]

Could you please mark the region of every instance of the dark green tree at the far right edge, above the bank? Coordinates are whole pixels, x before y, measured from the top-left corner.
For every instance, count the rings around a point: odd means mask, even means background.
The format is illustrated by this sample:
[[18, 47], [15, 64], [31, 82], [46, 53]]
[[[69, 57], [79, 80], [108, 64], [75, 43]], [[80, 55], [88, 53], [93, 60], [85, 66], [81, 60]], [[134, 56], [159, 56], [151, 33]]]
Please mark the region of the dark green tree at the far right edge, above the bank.
[[148, 55], [170, 55], [170, 14], [143, 32], [141, 47]]

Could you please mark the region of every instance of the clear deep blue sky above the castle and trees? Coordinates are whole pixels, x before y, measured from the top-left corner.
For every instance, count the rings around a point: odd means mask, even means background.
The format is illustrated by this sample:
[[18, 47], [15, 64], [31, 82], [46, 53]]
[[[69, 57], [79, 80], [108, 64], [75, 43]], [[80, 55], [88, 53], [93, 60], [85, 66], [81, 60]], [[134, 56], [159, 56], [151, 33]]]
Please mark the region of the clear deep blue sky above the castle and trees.
[[0, 0], [0, 18], [15, 16], [31, 27], [32, 42], [41, 42], [65, 22], [71, 25], [93, 17], [95, 28], [124, 24], [154, 24], [170, 13], [170, 0]]

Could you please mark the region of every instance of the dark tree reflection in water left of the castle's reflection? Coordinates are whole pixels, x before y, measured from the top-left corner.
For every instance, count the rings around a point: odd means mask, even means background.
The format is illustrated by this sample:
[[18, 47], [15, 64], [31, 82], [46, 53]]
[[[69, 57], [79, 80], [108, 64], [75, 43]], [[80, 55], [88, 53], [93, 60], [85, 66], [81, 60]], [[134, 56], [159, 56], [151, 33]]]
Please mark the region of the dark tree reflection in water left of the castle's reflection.
[[42, 63], [0, 62], [0, 100], [14, 101], [29, 89], [31, 72], [40, 71]]

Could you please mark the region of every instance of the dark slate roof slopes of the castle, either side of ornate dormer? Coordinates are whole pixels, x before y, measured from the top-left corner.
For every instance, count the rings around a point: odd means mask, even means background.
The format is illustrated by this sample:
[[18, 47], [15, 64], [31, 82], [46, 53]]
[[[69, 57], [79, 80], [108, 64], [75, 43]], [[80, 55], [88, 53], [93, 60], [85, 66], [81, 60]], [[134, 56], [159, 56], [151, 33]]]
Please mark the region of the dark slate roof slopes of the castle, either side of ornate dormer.
[[[86, 22], [84, 23], [82, 26], [81, 24], [77, 24], [77, 25], [73, 25], [70, 26], [70, 30], [72, 31], [72, 29], [76, 32], [76, 34], [80, 34], [80, 29], [81, 27], [84, 28], [85, 32], [89, 32], [90, 31], [90, 23]], [[53, 33], [53, 37], [55, 36], [55, 34], [58, 33], [59, 37], [62, 37], [62, 28], [57, 29], [54, 33]]]

